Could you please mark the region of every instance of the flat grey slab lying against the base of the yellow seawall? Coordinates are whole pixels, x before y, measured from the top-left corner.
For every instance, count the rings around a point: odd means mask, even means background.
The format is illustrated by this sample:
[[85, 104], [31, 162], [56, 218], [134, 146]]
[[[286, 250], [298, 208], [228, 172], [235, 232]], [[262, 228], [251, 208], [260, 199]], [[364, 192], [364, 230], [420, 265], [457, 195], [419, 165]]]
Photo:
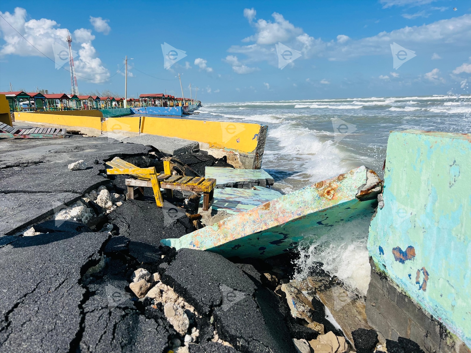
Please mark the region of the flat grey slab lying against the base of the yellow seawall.
[[125, 144], [143, 144], [152, 146], [160, 152], [171, 154], [172, 156], [198, 151], [200, 145], [196, 141], [185, 140], [178, 137], [166, 137], [158, 135], [141, 134], [135, 137], [128, 137], [122, 140]]

